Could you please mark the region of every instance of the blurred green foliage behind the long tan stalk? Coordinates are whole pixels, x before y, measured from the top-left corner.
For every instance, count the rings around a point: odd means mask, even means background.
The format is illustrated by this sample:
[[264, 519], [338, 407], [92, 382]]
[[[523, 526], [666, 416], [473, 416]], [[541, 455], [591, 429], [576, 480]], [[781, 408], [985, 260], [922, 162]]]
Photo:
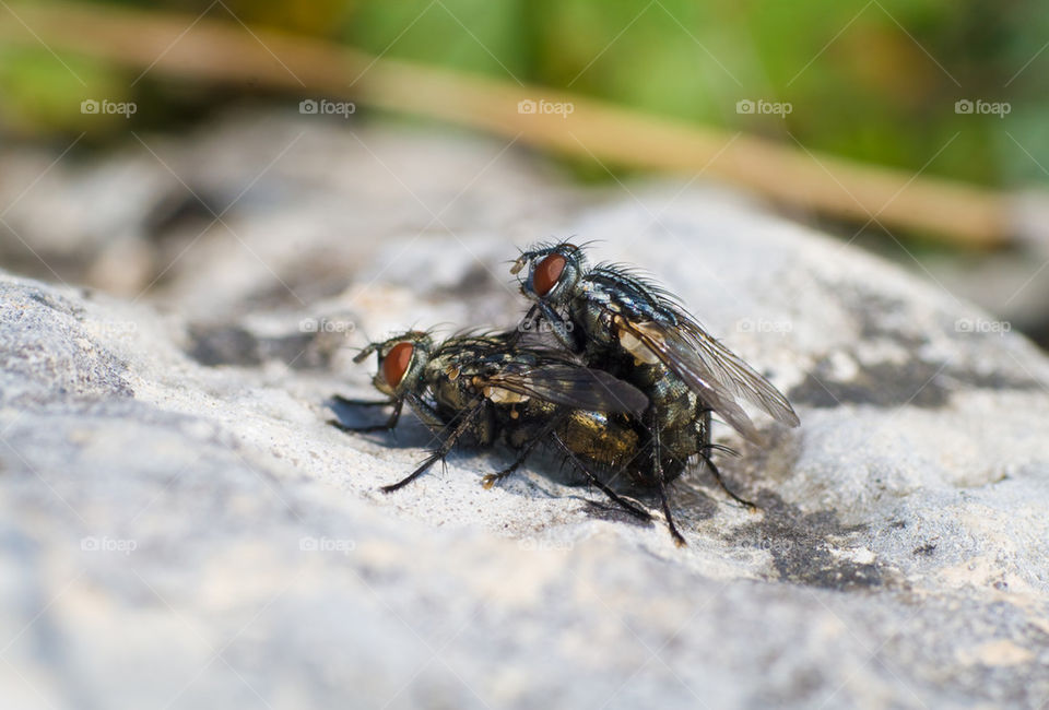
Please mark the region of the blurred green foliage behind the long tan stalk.
[[[123, 0], [345, 42], [376, 55], [543, 84], [810, 150], [989, 185], [1046, 180], [1044, 0]], [[228, 9], [228, 11], [227, 11]], [[0, 14], [3, 10], [0, 9]], [[158, 48], [158, 52], [163, 48]], [[115, 100], [192, 103], [62, 57]], [[203, 90], [202, 90], [203, 91]], [[0, 47], [0, 126], [79, 131], [87, 95], [45, 49]], [[224, 92], [229, 97], [229, 92]], [[214, 92], [204, 92], [209, 105]], [[243, 95], [241, 95], [243, 96]], [[236, 96], [234, 96], [236, 98]], [[1004, 118], [955, 111], [1007, 102]], [[741, 99], [789, 103], [777, 115]], [[163, 120], [143, 111], [132, 121]], [[97, 129], [97, 122], [94, 122]], [[114, 132], [127, 119], [111, 121]], [[928, 164], [928, 165], [927, 165]]]

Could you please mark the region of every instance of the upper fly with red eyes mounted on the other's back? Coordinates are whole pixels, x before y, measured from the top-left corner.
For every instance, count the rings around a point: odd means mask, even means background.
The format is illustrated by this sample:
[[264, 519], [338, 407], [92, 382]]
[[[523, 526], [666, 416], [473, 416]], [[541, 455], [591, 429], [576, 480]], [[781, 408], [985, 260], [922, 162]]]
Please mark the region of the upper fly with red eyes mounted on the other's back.
[[626, 380], [648, 397], [643, 415], [643, 446], [651, 448], [647, 482], [658, 487], [675, 542], [684, 544], [684, 539], [670, 514], [667, 484], [693, 457], [698, 455], [732, 498], [753, 506], [724, 485], [710, 460], [711, 452], [722, 448], [710, 442], [711, 414], [756, 441], [757, 430], [740, 401], [798, 426], [787, 399], [709, 335], [673, 296], [629, 269], [588, 267], [582, 249], [568, 242], [538, 245], [510, 271], [520, 273], [526, 265], [528, 271], [519, 276], [521, 292], [533, 304], [522, 329], [538, 318], [549, 321], [556, 338], [588, 367]]

